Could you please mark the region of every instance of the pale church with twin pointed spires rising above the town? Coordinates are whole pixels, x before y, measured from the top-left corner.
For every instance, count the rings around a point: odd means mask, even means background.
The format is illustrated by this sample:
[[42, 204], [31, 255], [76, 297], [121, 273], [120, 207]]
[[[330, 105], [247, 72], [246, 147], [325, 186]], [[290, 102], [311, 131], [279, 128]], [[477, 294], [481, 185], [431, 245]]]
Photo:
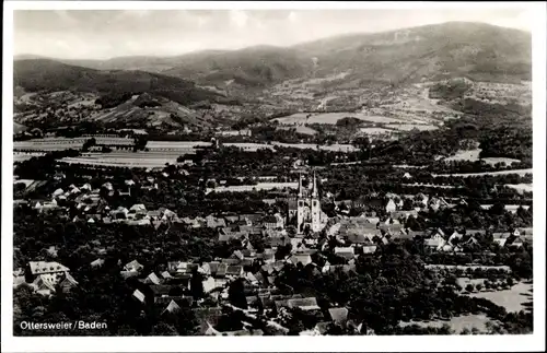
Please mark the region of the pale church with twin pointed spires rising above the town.
[[[296, 234], [303, 235], [306, 231], [321, 232], [325, 226], [326, 215], [321, 210], [317, 176], [313, 172], [312, 180], [299, 177], [299, 189], [295, 202], [290, 204], [289, 219], [296, 221]], [[294, 201], [294, 200], [293, 200]]]

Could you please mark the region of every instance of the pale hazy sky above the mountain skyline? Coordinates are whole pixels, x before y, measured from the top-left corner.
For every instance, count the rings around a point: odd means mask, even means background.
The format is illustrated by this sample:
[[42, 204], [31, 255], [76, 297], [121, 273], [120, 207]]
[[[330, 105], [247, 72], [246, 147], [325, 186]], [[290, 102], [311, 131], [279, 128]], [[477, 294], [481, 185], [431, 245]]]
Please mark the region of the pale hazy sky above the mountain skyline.
[[477, 21], [531, 31], [516, 9], [14, 11], [14, 54], [66, 59], [290, 46], [345, 33]]

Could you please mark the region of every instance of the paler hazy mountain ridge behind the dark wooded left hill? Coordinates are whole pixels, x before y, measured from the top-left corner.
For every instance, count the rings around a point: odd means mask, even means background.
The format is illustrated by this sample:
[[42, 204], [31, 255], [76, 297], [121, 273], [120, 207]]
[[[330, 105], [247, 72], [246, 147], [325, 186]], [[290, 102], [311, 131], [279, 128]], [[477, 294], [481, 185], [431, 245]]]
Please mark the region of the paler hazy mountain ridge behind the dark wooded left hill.
[[[403, 84], [467, 77], [477, 81], [529, 80], [531, 34], [482, 23], [449, 22], [351, 34], [295, 45], [205, 50], [176, 57], [58, 60], [98, 70], [161, 72], [203, 85], [233, 82], [268, 86], [290, 79], [348, 72], [347, 80]], [[232, 81], [233, 80], [233, 81]]]

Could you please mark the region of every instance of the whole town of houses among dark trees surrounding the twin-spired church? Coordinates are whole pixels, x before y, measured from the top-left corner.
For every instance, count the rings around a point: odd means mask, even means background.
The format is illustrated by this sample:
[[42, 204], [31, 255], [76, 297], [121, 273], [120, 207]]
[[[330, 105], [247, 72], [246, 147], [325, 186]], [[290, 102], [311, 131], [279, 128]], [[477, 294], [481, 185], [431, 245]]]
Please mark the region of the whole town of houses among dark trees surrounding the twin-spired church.
[[[423, 168], [279, 149], [214, 140], [153, 168], [65, 163], [62, 151], [19, 163], [43, 180], [14, 180], [16, 313], [85, 301], [55, 315], [100, 317], [103, 334], [450, 333], [462, 315], [479, 323], [456, 333], [520, 330], [526, 306], [514, 316], [482, 298], [532, 289], [529, 195], [497, 186], [526, 176], [461, 177], [456, 192]], [[479, 202], [473, 179], [509, 202]]]

